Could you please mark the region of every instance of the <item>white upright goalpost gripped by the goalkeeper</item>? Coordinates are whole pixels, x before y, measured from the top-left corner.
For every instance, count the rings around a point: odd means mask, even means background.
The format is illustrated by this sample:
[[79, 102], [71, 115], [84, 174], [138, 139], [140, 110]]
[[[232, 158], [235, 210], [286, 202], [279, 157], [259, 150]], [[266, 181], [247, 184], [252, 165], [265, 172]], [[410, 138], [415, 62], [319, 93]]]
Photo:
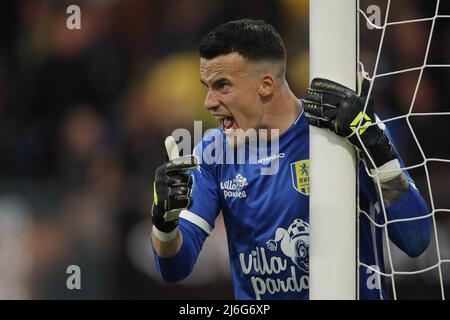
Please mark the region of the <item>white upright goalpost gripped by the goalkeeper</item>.
[[[310, 0], [310, 80], [356, 89], [357, 0]], [[355, 152], [310, 127], [310, 299], [356, 299]]]

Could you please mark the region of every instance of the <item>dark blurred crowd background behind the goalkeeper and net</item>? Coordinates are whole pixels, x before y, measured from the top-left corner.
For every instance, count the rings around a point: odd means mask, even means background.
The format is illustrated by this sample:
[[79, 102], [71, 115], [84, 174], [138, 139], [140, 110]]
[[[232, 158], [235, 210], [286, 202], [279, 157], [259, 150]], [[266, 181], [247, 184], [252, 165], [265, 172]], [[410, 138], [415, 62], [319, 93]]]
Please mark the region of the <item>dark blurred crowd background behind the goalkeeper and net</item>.
[[[449, 2], [441, 0], [439, 14], [450, 14]], [[361, 0], [361, 9], [379, 5], [384, 21], [386, 3]], [[66, 28], [71, 4], [81, 8], [81, 30]], [[290, 86], [304, 95], [308, 1], [11, 0], [0, 6], [0, 298], [232, 298], [220, 217], [191, 277], [176, 285], [160, 280], [150, 244], [154, 170], [165, 161], [163, 141], [174, 129], [193, 130], [194, 120], [204, 130], [216, 126], [203, 108], [197, 46], [217, 24], [244, 17], [273, 24], [288, 50]], [[435, 6], [434, 0], [394, 0], [389, 20], [434, 16]], [[389, 27], [377, 73], [422, 66], [431, 24]], [[363, 19], [360, 28], [361, 60], [373, 75], [382, 32]], [[449, 32], [449, 19], [437, 19], [428, 64], [450, 64]], [[449, 83], [448, 68], [381, 77], [376, 110], [382, 119], [450, 112]], [[406, 165], [450, 159], [449, 120], [411, 115], [389, 122]], [[430, 161], [410, 173], [430, 208], [450, 208], [450, 163]], [[435, 214], [441, 259], [450, 259], [447, 216]], [[394, 269], [434, 265], [435, 243], [416, 259], [393, 248]], [[81, 290], [66, 287], [69, 265], [81, 269]], [[399, 298], [439, 298], [437, 271], [396, 277]]]

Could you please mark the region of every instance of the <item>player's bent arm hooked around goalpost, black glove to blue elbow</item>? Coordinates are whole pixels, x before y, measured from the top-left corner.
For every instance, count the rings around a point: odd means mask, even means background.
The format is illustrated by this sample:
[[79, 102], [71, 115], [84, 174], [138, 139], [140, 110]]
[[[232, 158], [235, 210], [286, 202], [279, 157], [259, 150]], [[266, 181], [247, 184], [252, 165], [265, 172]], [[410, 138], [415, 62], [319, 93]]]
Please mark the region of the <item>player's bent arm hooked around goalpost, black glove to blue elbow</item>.
[[[364, 79], [358, 95], [336, 82], [314, 79], [304, 100], [305, 116], [310, 125], [346, 137], [361, 152], [365, 166], [375, 175], [376, 189], [381, 188], [388, 222], [423, 217], [429, 212], [428, 206], [402, 171], [387, 129], [375, 117], [369, 87]], [[377, 194], [379, 198], [380, 192]], [[421, 218], [390, 223], [388, 231], [400, 249], [417, 256], [430, 242], [431, 221]]]

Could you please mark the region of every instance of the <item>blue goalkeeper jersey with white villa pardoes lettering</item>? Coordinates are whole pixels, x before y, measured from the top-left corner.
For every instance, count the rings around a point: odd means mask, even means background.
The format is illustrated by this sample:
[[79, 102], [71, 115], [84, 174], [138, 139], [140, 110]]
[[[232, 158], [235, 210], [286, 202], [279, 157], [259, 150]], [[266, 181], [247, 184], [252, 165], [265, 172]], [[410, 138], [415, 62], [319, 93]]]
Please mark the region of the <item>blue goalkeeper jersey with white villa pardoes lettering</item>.
[[[158, 270], [169, 282], [188, 276], [216, 217], [223, 214], [237, 299], [309, 298], [309, 125], [301, 113], [279, 137], [277, 152], [256, 163], [218, 164], [212, 143], [225, 144], [221, 129], [214, 130], [194, 153], [202, 158], [194, 177], [193, 206], [180, 215], [183, 246], [172, 258], [155, 254]], [[248, 144], [247, 155], [251, 154]], [[217, 152], [217, 151], [216, 151]], [[209, 154], [209, 156], [205, 156]], [[235, 155], [236, 156], [236, 155]], [[206, 157], [206, 158], [205, 158]], [[209, 159], [207, 159], [209, 157]], [[224, 157], [224, 156], [223, 156]], [[236, 159], [235, 159], [236, 160]], [[262, 175], [261, 169], [278, 161], [278, 171]], [[403, 164], [402, 164], [403, 165]], [[377, 223], [384, 222], [382, 206], [372, 179], [360, 163], [361, 210]], [[424, 216], [428, 208], [411, 177], [408, 191], [386, 208], [388, 220]], [[333, 214], [333, 212], [330, 212]], [[383, 277], [364, 265], [384, 272], [382, 228], [360, 214], [359, 295], [361, 299], [386, 299]], [[410, 256], [419, 255], [430, 239], [428, 218], [388, 225], [390, 239]], [[333, 240], [330, 239], [330, 245]]]

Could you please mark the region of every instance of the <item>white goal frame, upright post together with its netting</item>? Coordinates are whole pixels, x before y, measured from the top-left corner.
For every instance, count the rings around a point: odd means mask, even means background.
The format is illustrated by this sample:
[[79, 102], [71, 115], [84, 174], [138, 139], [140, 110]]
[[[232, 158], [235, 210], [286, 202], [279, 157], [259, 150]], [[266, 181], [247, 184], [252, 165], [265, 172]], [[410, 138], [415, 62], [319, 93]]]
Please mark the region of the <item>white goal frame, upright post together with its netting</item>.
[[[352, 151], [327, 130], [311, 127], [310, 299], [355, 299], [362, 286], [376, 289], [382, 283], [392, 299], [445, 299], [450, 296], [450, 1], [314, 0], [309, 6], [310, 79], [329, 78], [356, 89], [356, 65], [365, 69], [375, 111], [429, 207], [413, 219], [389, 220], [382, 200], [364, 211], [359, 188], [354, 189], [359, 175], [346, 166], [353, 164]], [[383, 172], [367, 173], [379, 186]], [[354, 226], [362, 219], [372, 238], [378, 234], [383, 240], [384, 256], [375, 265], [358, 256]], [[390, 242], [389, 229], [420, 219], [431, 220], [431, 243], [410, 258]], [[371, 283], [357, 283], [361, 272]]]

